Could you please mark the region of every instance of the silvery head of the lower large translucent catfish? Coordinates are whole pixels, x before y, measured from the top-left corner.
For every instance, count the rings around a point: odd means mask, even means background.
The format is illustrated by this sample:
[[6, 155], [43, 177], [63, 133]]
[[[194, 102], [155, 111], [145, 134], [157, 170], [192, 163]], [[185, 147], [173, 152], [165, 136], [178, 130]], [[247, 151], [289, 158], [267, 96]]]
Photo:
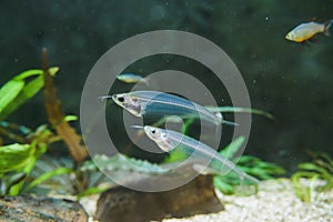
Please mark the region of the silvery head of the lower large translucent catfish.
[[154, 141], [159, 145], [159, 148], [161, 148], [161, 150], [163, 150], [164, 152], [170, 152], [174, 149], [174, 145], [172, 145], [169, 141], [167, 130], [150, 125], [144, 125], [143, 130], [147, 137]]

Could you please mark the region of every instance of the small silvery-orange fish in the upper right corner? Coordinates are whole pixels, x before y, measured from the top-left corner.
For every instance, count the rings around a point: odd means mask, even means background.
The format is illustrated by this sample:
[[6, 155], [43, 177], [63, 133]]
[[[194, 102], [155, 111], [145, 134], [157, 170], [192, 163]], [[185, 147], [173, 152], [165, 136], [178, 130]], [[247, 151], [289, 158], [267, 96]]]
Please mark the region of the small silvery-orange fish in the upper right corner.
[[326, 36], [330, 36], [330, 28], [333, 24], [333, 20], [330, 20], [325, 23], [319, 23], [319, 22], [304, 22], [300, 26], [295, 27], [293, 30], [291, 30], [286, 36], [285, 39], [295, 41], [295, 42], [304, 42], [310, 40], [313, 36], [316, 33], [324, 33]]

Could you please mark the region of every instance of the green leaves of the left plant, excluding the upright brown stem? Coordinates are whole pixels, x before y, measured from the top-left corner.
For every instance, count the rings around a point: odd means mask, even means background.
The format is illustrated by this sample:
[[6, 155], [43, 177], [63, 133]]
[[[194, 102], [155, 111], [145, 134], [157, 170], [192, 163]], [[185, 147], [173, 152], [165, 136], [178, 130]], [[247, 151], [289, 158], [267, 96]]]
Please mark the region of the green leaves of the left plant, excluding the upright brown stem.
[[[51, 75], [59, 68], [50, 68]], [[36, 161], [57, 140], [51, 131], [41, 125], [36, 131], [4, 121], [29, 101], [43, 87], [43, 71], [28, 70], [6, 82], [0, 89], [0, 194], [18, 194], [28, 180]]]

